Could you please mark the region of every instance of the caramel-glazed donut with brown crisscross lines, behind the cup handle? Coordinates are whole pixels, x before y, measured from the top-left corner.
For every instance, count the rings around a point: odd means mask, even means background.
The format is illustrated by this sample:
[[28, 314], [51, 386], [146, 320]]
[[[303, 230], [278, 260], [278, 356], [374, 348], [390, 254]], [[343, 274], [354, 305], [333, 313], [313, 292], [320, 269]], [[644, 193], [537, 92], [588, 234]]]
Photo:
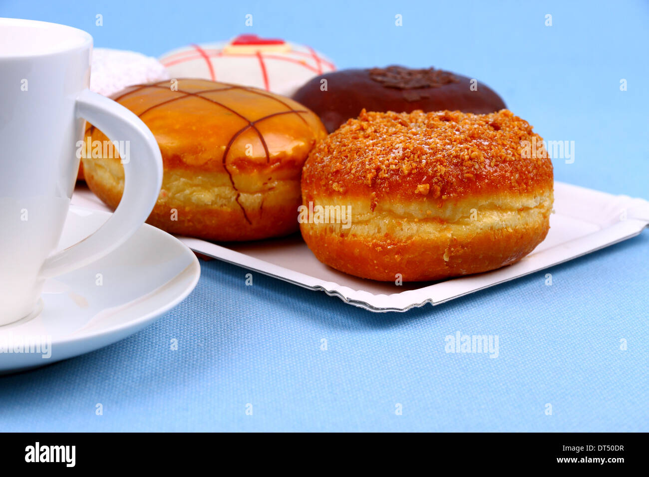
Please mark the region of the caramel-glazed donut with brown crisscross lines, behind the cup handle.
[[[326, 136], [313, 112], [273, 93], [202, 79], [130, 86], [112, 99], [140, 116], [160, 146], [162, 190], [148, 223], [214, 241], [298, 230], [302, 165]], [[128, 150], [106, 141], [91, 128], [80, 155], [90, 190], [116, 208]]]

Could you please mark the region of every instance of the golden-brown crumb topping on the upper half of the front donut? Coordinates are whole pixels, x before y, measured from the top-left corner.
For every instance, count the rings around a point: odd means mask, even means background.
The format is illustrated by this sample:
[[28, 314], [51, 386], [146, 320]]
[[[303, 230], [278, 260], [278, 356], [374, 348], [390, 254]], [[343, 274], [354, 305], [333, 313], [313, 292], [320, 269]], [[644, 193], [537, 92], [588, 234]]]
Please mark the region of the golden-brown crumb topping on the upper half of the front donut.
[[[533, 138], [537, 157], [526, 157], [524, 141]], [[313, 149], [303, 183], [329, 193], [371, 190], [428, 200], [478, 190], [528, 192], [552, 187], [552, 162], [542, 141], [509, 110], [363, 110]]]

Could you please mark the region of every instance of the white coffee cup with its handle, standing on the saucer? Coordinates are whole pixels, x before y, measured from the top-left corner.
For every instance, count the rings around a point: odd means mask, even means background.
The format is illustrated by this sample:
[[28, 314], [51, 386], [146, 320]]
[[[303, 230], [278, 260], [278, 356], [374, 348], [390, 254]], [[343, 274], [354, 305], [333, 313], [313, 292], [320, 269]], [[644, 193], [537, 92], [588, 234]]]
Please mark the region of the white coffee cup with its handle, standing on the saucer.
[[[0, 326], [35, 313], [45, 278], [98, 260], [147, 219], [162, 157], [135, 114], [90, 92], [92, 36], [64, 25], [0, 18]], [[129, 141], [117, 210], [88, 238], [56, 252], [75, 187], [84, 120]]]

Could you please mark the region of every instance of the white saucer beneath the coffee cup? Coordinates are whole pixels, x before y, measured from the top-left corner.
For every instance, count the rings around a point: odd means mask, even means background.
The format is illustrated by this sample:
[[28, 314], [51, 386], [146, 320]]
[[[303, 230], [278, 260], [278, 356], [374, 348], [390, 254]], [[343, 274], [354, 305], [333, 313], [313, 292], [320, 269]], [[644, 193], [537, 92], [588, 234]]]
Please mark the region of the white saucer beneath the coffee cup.
[[[108, 217], [106, 212], [70, 206], [59, 247], [92, 234]], [[79, 356], [134, 334], [187, 297], [200, 275], [190, 249], [145, 224], [101, 260], [47, 280], [42, 310], [37, 307], [31, 316], [0, 326], [0, 373]], [[50, 342], [51, 356], [43, 358]], [[6, 345], [15, 343], [45, 349], [6, 352]]]

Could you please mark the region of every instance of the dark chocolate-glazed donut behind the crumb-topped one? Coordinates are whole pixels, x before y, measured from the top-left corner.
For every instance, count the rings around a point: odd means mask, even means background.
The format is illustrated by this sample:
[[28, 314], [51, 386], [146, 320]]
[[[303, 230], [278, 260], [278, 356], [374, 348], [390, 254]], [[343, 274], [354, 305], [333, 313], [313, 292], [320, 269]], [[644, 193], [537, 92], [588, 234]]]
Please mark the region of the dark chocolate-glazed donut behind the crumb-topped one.
[[315, 77], [293, 93], [315, 112], [328, 132], [367, 111], [459, 110], [486, 114], [506, 108], [491, 88], [441, 69], [342, 69]]

